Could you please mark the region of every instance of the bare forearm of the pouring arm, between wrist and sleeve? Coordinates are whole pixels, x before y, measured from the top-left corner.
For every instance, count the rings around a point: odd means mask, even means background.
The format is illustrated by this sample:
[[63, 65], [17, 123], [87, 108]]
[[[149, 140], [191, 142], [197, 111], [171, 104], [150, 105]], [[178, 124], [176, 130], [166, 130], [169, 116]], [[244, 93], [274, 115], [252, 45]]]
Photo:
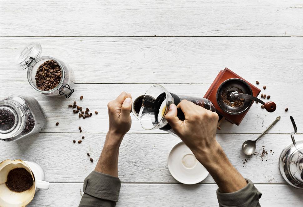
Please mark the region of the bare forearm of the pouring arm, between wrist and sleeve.
[[220, 192], [231, 193], [247, 184], [242, 175], [232, 166], [218, 142], [208, 152], [197, 154], [198, 161], [208, 170]]

